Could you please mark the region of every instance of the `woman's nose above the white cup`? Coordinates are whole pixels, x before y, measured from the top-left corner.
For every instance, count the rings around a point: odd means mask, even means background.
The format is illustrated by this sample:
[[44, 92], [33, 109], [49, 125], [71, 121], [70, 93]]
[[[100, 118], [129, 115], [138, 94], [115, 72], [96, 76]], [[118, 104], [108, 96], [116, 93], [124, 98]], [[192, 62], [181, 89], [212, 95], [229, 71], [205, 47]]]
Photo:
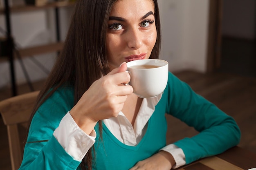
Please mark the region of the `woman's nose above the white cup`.
[[130, 29], [127, 33], [127, 44], [131, 49], [139, 49], [142, 46], [143, 35], [139, 29]]

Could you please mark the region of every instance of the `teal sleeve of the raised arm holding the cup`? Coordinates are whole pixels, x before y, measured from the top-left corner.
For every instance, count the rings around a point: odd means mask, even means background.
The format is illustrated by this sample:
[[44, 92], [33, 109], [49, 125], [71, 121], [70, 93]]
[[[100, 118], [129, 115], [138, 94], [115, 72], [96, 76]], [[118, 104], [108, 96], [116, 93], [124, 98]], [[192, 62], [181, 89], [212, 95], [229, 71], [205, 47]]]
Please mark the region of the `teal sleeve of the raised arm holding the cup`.
[[36, 111], [29, 128], [19, 170], [76, 170], [74, 160], [55, 139], [53, 132], [73, 106], [73, 93], [58, 90]]

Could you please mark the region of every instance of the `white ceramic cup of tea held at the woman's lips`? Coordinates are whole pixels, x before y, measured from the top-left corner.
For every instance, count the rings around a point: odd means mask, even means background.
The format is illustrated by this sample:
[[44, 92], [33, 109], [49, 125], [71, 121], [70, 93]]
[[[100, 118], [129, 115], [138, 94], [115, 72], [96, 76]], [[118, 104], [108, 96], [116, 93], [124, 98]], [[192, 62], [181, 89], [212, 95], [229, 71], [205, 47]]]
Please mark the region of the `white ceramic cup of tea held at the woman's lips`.
[[135, 60], [127, 63], [129, 85], [141, 98], [155, 97], [162, 93], [168, 81], [168, 62], [159, 59]]

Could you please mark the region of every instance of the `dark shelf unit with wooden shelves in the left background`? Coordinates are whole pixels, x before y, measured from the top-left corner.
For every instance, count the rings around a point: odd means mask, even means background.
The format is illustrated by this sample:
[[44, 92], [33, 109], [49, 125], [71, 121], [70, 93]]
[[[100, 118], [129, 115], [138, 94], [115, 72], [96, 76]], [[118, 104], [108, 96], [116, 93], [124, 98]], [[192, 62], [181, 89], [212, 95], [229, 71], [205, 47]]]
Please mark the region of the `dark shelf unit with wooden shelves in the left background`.
[[50, 2], [43, 6], [33, 6], [33, 5], [24, 5], [24, 6], [16, 6], [16, 7], [9, 7], [9, 1], [4, 0], [4, 9], [0, 9], [0, 14], [5, 15], [5, 24], [7, 28], [6, 38], [7, 38], [7, 56], [0, 58], [0, 62], [9, 61], [10, 65], [10, 73], [11, 73], [11, 87], [12, 87], [12, 95], [17, 95], [17, 88], [16, 88], [16, 79], [15, 79], [15, 68], [14, 68], [14, 60], [16, 56], [13, 53], [14, 44], [13, 38], [11, 33], [11, 13], [20, 13], [20, 12], [27, 12], [27, 11], [36, 11], [40, 9], [49, 9], [54, 8], [55, 10], [55, 20], [56, 20], [56, 43], [50, 43], [40, 46], [33, 46], [25, 49], [20, 49], [19, 54], [21, 58], [29, 57], [31, 55], [38, 55], [43, 53], [51, 53], [51, 52], [59, 52], [63, 48], [63, 42], [60, 42], [60, 29], [59, 29], [59, 15], [58, 15], [58, 8], [61, 7], [68, 7], [73, 6], [75, 2]]

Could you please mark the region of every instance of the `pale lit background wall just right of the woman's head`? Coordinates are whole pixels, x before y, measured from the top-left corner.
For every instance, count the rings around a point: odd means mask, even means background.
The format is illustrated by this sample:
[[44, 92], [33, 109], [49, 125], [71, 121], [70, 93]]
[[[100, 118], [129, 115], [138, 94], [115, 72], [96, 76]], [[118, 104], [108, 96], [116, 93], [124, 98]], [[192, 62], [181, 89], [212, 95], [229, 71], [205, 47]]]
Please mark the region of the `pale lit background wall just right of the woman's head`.
[[161, 58], [170, 71], [206, 71], [209, 0], [160, 0]]

